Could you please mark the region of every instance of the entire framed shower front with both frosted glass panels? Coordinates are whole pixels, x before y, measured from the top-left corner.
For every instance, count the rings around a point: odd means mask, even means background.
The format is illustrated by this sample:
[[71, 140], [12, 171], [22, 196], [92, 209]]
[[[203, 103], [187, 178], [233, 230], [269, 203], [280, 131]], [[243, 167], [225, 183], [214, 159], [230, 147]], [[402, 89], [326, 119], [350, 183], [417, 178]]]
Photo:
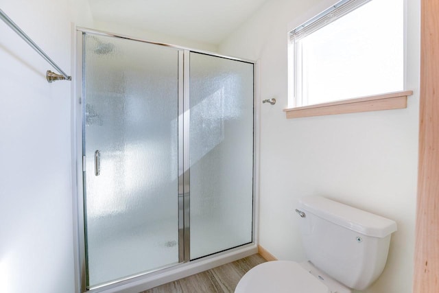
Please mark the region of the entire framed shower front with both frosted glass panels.
[[82, 290], [254, 242], [254, 63], [78, 31]]

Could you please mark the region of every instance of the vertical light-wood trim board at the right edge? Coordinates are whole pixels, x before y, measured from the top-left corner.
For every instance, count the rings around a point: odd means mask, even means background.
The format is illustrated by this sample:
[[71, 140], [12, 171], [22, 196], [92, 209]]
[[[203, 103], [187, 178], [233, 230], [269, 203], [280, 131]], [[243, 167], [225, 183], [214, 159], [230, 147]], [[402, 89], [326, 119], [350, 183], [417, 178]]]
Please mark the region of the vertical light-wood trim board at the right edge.
[[439, 3], [420, 3], [419, 167], [414, 293], [439, 292]]

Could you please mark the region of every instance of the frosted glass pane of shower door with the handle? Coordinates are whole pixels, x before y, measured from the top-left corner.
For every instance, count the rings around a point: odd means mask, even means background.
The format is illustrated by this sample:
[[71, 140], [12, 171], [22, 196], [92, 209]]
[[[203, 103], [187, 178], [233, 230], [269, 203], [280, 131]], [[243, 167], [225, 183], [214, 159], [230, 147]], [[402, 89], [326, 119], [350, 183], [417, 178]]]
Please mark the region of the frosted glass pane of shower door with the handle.
[[88, 285], [177, 263], [178, 50], [86, 34], [83, 104]]

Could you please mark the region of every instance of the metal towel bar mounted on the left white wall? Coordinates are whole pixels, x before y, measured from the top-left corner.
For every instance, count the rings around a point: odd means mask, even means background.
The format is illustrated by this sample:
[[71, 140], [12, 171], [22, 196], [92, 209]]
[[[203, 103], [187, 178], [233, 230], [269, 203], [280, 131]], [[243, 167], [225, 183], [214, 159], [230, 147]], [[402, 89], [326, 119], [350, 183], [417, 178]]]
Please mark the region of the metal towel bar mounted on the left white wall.
[[58, 70], [61, 73], [61, 74], [57, 74], [48, 70], [46, 72], [47, 82], [53, 82], [54, 80], [71, 80], [71, 76], [67, 75], [67, 73], [62, 71], [62, 69], [58, 65], [56, 65], [56, 63], [53, 60], [51, 60], [51, 58], [49, 58], [49, 56], [47, 56], [47, 54], [45, 54], [45, 52], [40, 47], [38, 47], [38, 45], [36, 45], [36, 43], [34, 43], [34, 41], [31, 38], [29, 38], [29, 36], [27, 36], [27, 34], [25, 34], [25, 32], [23, 32], [23, 30], [21, 30], [21, 28], [18, 25], [16, 25], [16, 23], [14, 23], [14, 21], [12, 21], [12, 19], [10, 19], [8, 15], [6, 15], [5, 12], [3, 12], [3, 10], [1, 9], [0, 9], [0, 19], [4, 21], [7, 25], [9, 25], [9, 27], [14, 32], [16, 32], [16, 34], [18, 34], [21, 38], [23, 38], [23, 40], [25, 40], [25, 42], [29, 44], [30, 47], [32, 47], [38, 54], [40, 54], [41, 57], [45, 58], [45, 60], [49, 62], [51, 66], [53, 66], [56, 70]]

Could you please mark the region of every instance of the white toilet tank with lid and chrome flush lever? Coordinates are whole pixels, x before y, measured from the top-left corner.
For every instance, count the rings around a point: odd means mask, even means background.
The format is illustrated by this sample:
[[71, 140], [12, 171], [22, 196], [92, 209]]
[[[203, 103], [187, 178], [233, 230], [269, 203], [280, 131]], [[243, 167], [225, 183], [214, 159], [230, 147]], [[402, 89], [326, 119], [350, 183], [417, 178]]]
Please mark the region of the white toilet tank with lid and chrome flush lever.
[[327, 198], [299, 201], [300, 230], [307, 258], [349, 288], [368, 288], [388, 257], [396, 222]]

